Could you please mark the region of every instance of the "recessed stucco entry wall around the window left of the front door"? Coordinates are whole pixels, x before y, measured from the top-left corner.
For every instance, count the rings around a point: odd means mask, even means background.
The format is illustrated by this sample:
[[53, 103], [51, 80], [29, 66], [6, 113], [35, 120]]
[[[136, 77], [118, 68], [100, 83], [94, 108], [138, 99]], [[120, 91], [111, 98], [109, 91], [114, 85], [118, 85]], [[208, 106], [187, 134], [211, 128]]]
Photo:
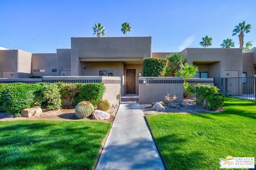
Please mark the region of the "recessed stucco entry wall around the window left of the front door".
[[114, 77], [121, 78], [122, 95], [124, 95], [124, 63], [123, 62], [82, 62], [83, 76], [99, 76], [99, 71], [114, 71]]

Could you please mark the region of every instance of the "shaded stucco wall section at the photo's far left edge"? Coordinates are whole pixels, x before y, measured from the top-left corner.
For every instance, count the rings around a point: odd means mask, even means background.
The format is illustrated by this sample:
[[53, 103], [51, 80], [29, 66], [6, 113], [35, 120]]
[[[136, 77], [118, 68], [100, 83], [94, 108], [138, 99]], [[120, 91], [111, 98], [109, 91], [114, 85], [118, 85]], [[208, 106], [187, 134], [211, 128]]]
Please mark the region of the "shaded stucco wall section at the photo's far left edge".
[[15, 72], [14, 78], [17, 77], [17, 57], [18, 50], [0, 50], [0, 78], [3, 78], [3, 72]]

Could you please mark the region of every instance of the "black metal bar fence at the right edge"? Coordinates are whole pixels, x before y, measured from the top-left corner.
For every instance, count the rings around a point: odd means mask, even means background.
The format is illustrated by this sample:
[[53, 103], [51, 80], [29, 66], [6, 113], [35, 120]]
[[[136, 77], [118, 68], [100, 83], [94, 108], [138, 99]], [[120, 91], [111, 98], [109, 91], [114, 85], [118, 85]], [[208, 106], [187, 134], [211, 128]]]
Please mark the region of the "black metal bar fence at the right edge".
[[228, 97], [256, 100], [256, 77], [214, 78], [214, 86]]

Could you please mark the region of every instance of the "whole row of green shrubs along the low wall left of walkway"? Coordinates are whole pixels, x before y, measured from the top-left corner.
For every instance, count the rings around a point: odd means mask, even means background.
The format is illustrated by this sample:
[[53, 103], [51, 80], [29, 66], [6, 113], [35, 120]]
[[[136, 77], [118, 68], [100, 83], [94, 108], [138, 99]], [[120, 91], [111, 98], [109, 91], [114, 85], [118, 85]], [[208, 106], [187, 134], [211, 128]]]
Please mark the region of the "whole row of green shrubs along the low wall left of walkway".
[[97, 105], [106, 88], [103, 83], [10, 83], [0, 84], [0, 106], [7, 113], [20, 116], [22, 109], [40, 106], [60, 109], [60, 98], [70, 98], [73, 108], [80, 101]]

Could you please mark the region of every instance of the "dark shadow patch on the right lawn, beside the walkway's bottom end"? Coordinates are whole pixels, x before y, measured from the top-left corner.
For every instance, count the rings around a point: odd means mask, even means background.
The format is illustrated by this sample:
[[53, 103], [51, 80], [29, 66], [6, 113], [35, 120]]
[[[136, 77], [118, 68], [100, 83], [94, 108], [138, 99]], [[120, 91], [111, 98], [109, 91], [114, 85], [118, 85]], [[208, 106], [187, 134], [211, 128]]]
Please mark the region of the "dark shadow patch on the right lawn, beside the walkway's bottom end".
[[188, 145], [189, 139], [171, 134], [155, 138], [155, 140], [167, 169], [203, 169], [208, 167], [203, 152], [184, 150], [183, 146]]

